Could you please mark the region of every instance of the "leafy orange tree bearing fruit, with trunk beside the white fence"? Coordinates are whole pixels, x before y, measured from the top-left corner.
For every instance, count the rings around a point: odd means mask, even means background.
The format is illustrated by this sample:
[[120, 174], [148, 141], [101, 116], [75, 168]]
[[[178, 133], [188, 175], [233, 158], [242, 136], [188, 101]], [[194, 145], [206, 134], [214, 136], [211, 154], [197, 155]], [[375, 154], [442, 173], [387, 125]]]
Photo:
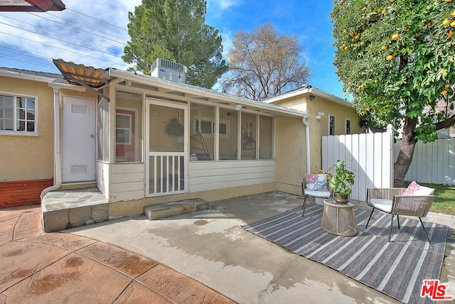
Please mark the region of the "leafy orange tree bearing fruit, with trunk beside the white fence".
[[437, 130], [455, 124], [455, 1], [333, 4], [334, 65], [343, 89], [367, 124], [402, 128], [394, 164], [395, 186], [400, 187], [415, 143], [434, 141]]

